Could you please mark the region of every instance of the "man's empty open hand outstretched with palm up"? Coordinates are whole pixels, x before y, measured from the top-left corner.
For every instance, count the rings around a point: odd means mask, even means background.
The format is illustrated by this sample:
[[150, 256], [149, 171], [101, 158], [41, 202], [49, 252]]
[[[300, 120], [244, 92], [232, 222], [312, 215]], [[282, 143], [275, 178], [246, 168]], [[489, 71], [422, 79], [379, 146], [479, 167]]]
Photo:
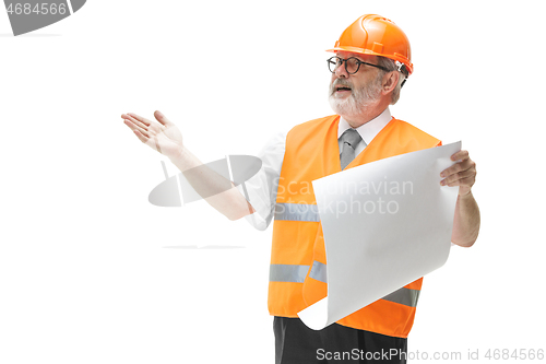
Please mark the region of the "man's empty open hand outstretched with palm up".
[[155, 111], [154, 116], [159, 122], [133, 113], [122, 114], [121, 118], [144, 144], [169, 158], [180, 155], [183, 149], [180, 130], [162, 113]]

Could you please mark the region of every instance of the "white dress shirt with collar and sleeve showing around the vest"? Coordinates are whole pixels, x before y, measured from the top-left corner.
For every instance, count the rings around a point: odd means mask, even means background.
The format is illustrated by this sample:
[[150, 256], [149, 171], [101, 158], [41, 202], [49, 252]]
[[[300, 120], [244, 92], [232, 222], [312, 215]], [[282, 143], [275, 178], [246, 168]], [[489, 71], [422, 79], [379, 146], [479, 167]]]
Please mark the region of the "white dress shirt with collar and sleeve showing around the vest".
[[[364, 143], [360, 141], [355, 148], [355, 155], [358, 155], [367, 144], [383, 129], [392, 116], [389, 108], [385, 108], [381, 115], [365, 125], [356, 128]], [[340, 119], [337, 127], [337, 139], [345, 130], [351, 128], [348, 122], [343, 118]], [[247, 215], [247, 221], [258, 230], [268, 228], [275, 211], [276, 191], [281, 168], [283, 167], [284, 151], [286, 146], [287, 132], [280, 132], [273, 136], [261, 152], [257, 155], [262, 160], [262, 167], [252, 178], [245, 183], [248, 192], [248, 201], [254, 208], [253, 214]], [[342, 150], [341, 141], [340, 151]], [[245, 196], [242, 187], [237, 186], [239, 191]]]

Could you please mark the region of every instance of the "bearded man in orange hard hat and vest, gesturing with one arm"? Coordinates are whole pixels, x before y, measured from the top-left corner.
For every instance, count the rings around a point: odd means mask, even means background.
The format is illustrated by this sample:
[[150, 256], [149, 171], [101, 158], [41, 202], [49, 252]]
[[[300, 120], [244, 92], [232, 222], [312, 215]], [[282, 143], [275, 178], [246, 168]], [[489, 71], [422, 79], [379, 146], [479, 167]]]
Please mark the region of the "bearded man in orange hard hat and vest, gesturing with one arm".
[[[312, 209], [316, 200], [310, 181], [440, 145], [436, 138], [390, 115], [389, 105], [396, 103], [413, 72], [410, 43], [400, 27], [378, 15], [363, 15], [330, 51], [335, 54], [328, 60], [332, 72], [330, 104], [336, 115], [298, 125], [286, 136], [273, 138], [260, 155], [262, 171], [246, 184], [248, 201], [237, 188], [206, 201], [230, 220], [247, 216], [258, 228], [265, 228], [275, 218], [269, 308], [275, 316], [276, 363], [405, 363], [401, 353], [407, 350], [422, 279], [396, 291], [410, 300], [383, 297], [320, 331], [310, 330], [297, 318], [299, 310], [327, 295], [321, 273], [327, 265], [324, 242], [320, 219]], [[180, 171], [201, 166], [185, 148], [178, 129], [159, 111], [155, 117], [159, 124], [135, 114], [122, 115], [142, 142], [167, 155]], [[471, 191], [475, 163], [466, 151], [451, 158], [460, 162], [442, 172], [441, 184], [460, 187], [452, 242], [470, 247], [479, 231], [479, 211]], [[206, 168], [189, 178], [198, 191], [217, 189], [219, 179]], [[385, 356], [385, 352], [396, 355]]]

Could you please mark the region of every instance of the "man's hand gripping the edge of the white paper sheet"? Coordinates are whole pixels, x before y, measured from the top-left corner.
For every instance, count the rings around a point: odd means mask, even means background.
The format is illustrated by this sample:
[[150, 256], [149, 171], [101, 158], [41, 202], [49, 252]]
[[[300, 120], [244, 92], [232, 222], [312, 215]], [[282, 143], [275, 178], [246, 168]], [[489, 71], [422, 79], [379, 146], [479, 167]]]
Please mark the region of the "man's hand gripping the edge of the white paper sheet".
[[460, 186], [459, 196], [468, 195], [472, 185], [476, 181], [476, 163], [471, 160], [468, 151], [459, 151], [451, 155], [451, 161], [461, 161], [442, 171], [440, 181], [442, 186]]

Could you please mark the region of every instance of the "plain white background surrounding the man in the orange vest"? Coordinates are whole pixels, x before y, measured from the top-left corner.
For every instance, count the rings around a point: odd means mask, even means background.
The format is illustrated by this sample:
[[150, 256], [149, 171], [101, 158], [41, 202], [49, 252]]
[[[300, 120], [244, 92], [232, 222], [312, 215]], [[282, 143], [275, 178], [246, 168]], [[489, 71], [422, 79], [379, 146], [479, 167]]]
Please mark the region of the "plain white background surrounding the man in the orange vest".
[[0, 363], [273, 363], [271, 227], [150, 204], [165, 158], [120, 115], [256, 154], [332, 113], [324, 49], [364, 13], [412, 42], [391, 113], [478, 169], [478, 242], [425, 278], [410, 351], [546, 349], [539, 1], [91, 0], [20, 37], [0, 12]]

